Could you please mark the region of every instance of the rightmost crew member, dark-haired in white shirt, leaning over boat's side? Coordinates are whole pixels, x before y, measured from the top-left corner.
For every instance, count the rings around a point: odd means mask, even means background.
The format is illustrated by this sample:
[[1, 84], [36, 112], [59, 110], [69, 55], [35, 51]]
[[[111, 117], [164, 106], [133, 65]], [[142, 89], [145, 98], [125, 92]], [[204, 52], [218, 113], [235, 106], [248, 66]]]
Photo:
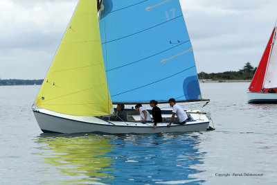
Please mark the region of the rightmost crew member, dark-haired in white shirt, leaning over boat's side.
[[[186, 121], [188, 120], [188, 115], [186, 114], [186, 112], [184, 111], [184, 109], [182, 109], [179, 105], [176, 104], [175, 98], [170, 98], [168, 100], [168, 103], [170, 105], [170, 107], [172, 107], [172, 116], [170, 118], [170, 120], [167, 119], [168, 123], [168, 127], [171, 127], [172, 123], [180, 123], [180, 124], [185, 124]], [[175, 118], [175, 115], [177, 115], [178, 118]]]

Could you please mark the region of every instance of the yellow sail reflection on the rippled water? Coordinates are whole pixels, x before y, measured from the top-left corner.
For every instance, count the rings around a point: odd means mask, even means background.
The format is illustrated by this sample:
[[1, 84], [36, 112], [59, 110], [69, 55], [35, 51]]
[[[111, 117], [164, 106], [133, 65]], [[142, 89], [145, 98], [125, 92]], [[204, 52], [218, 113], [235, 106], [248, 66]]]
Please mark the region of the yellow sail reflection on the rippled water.
[[49, 168], [44, 173], [52, 176], [60, 171], [62, 175], [58, 179], [62, 184], [90, 184], [101, 178], [110, 178], [108, 173], [102, 170], [110, 166], [110, 158], [105, 157], [112, 148], [109, 139], [93, 134], [41, 134], [37, 141], [46, 144], [39, 148], [41, 152], [37, 155], [44, 158], [44, 164], [55, 168]]

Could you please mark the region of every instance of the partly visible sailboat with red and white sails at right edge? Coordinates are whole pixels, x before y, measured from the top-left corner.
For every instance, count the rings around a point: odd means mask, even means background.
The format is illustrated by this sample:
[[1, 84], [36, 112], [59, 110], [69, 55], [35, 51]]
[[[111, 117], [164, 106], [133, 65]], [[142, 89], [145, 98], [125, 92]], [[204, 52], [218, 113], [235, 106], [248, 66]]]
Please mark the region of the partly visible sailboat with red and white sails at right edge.
[[248, 103], [277, 103], [276, 25], [247, 91]]

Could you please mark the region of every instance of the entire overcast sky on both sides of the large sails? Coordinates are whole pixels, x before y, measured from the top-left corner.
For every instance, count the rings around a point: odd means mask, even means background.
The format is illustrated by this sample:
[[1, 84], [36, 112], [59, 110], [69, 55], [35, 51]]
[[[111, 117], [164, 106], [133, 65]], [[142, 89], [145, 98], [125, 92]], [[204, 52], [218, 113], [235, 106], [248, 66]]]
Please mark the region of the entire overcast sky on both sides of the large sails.
[[[180, 1], [198, 72], [258, 66], [277, 19], [276, 0]], [[0, 78], [44, 78], [77, 3], [0, 0]]]

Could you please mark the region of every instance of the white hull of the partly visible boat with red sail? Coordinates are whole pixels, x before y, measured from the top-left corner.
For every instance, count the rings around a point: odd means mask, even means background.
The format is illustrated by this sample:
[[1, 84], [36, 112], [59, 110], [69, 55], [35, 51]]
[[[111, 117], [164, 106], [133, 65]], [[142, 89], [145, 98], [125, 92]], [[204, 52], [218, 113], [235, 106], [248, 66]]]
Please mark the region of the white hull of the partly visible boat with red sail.
[[277, 93], [247, 92], [248, 103], [277, 103]]

